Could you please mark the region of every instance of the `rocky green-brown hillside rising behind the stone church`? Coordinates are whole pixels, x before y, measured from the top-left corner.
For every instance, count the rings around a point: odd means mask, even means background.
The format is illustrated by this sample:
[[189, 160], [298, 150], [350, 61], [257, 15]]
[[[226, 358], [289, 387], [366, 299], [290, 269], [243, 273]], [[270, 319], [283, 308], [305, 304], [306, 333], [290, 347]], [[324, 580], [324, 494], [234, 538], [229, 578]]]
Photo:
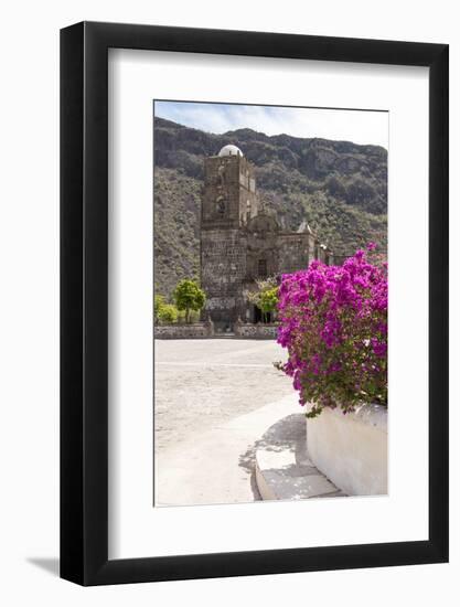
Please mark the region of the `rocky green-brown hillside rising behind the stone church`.
[[203, 159], [235, 143], [256, 166], [266, 207], [287, 231], [308, 222], [336, 254], [368, 241], [386, 249], [387, 152], [350, 141], [268, 137], [250, 129], [213, 135], [154, 119], [156, 289], [169, 296], [197, 276]]

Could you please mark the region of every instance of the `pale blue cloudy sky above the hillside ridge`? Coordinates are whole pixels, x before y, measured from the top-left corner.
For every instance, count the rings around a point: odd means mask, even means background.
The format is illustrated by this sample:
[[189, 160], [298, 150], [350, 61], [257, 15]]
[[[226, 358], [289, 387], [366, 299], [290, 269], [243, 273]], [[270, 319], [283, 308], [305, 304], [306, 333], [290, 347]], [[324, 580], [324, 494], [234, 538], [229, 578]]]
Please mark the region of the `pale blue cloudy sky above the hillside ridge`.
[[388, 148], [386, 111], [154, 102], [154, 114], [207, 132], [252, 128], [266, 135], [284, 132]]

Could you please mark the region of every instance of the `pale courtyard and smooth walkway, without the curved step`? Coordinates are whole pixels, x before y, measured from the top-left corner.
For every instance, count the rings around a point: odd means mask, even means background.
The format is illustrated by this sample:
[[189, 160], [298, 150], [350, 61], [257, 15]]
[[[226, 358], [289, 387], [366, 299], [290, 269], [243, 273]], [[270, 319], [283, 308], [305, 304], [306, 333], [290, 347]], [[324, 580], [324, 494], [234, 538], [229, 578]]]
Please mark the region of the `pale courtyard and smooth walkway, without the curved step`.
[[259, 499], [252, 446], [267, 420], [299, 412], [272, 364], [286, 352], [271, 340], [157, 340], [154, 360], [156, 504]]

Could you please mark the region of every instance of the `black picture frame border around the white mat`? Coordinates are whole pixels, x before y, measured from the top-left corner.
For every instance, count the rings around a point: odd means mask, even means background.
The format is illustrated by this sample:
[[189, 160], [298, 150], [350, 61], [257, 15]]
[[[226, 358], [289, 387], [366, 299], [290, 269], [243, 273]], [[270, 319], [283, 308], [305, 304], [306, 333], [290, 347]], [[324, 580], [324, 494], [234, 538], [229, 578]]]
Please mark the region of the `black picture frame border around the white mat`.
[[[429, 68], [429, 539], [108, 560], [108, 49]], [[82, 22], [61, 31], [61, 577], [82, 585], [448, 561], [448, 45]]]

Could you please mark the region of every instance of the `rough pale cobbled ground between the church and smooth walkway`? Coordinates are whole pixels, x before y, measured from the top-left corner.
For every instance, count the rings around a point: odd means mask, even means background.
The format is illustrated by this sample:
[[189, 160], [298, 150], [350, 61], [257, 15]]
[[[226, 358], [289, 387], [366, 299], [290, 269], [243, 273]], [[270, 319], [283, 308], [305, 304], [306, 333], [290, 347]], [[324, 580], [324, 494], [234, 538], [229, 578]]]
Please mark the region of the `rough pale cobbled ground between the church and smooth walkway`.
[[271, 340], [156, 340], [156, 450], [292, 394], [272, 364], [285, 360]]

